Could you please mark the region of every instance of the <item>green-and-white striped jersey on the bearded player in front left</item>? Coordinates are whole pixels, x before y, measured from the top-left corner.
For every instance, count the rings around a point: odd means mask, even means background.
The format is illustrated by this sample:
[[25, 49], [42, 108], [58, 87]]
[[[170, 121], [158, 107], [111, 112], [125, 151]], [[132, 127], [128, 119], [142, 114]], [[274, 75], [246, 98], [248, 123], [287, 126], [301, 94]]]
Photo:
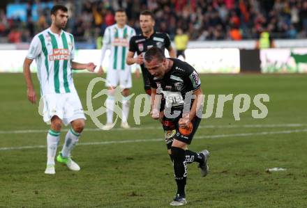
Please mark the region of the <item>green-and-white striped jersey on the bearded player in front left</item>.
[[27, 58], [35, 59], [40, 81], [40, 93], [73, 93], [71, 60], [75, 56], [73, 35], [46, 29], [34, 36]]

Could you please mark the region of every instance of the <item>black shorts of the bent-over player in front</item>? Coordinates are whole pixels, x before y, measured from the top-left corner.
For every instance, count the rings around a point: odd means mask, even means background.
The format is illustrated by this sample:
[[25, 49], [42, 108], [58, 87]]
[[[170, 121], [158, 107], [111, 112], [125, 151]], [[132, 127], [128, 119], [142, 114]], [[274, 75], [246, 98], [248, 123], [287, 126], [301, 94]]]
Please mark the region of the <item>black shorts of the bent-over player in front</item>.
[[169, 119], [165, 116], [163, 118], [163, 129], [165, 131], [165, 143], [167, 150], [170, 150], [172, 147], [172, 142], [174, 139], [190, 145], [193, 136], [200, 125], [200, 121], [202, 120], [201, 118], [195, 116], [195, 118], [192, 120], [192, 129], [179, 129], [178, 122], [180, 118], [181, 116], [174, 119]]

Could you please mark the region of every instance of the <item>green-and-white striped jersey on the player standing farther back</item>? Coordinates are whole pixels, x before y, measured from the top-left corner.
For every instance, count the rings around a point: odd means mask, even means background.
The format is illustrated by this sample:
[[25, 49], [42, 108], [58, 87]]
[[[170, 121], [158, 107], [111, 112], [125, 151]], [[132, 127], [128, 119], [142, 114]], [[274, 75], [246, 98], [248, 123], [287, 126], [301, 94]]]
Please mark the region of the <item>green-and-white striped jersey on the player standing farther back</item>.
[[135, 35], [135, 29], [125, 25], [119, 28], [117, 24], [108, 26], [103, 35], [103, 47], [101, 48], [100, 65], [105, 58], [105, 51], [111, 49], [110, 62], [108, 70], [125, 70], [130, 69], [126, 64], [126, 57], [129, 49], [129, 41]]

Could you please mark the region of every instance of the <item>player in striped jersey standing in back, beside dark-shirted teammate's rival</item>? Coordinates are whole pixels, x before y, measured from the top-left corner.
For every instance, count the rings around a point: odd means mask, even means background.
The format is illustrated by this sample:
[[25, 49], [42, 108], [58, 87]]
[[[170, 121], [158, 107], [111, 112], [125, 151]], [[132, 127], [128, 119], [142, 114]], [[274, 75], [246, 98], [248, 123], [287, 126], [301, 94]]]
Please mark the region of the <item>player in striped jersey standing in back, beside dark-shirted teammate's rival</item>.
[[116, 24], [108, 26], [103, 35], [103, 47], [101, 48], [100, 67], [98, 74], [103, 73], [103, 59], [105, 58], [105, 51], [107, 48], [111, 49], [110, 63], [107, 68], [107, 83], [105, 85], [109, 88], [107, 95], [107, 124], [103, 130], [109, 130], [113, 127], [113, 111], [114, 111], [114, 88], [119, 83], [123, 95], [123, 110], [121, 127], [129, 129], [128, 113], [130, 102], [126, 98], [129, 95], [129, 89], [132, 87], [130, 65], [126, 64], [126, 56], [128, 53], [128, 45], [130, 38], [135, 35], [135, 30], [126, 24], [127, 16], [123, 9], [119, 9], [115, 13]]

